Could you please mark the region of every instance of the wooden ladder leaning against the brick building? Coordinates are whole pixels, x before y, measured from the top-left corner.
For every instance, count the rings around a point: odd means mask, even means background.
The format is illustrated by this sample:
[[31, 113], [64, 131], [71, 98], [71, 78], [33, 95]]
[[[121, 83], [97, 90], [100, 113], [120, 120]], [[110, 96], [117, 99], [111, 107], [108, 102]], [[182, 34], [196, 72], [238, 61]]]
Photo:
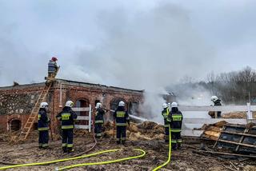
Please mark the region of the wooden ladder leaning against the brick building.
[[[58, 68], [58, 70], [59, 70], [59, 68]], [[56, 74], [54, 75], [54, 78], [58, 74], [58, 70], [57, 70]], [[31, 129], [33, 129], [34, 122], [38, 119], [38, 112], [40, 109], [40, 104], [43, 101], [46, 101], [46, 97], [50, 91], [51, 86], [54, 83], [54, 78], [51, 78], [50, 82], [47, 79], [46, 85], [43, 87], [43, 89], [38, 97], [38, 101], [36, 101], [34, 108], [32, 109], [30, 116], [27, 119], [26, 124], [24, 125], [24, 127], [22, 129], [22, 133], [20, 133], [18, 136], [18, 141], [26, 141], [26, 138], [29, 136]]]

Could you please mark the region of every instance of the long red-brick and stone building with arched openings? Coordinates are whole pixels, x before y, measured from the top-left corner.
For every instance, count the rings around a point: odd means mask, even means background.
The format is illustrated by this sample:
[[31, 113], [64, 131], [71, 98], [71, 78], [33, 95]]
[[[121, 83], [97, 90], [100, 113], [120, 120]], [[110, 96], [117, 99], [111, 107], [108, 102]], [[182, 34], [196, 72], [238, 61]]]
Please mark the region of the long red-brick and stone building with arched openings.
[[[0, 129], [12, 131], [21, 129], [44, 85], [45, 83], [42, 82], [1, 87]], [[50, 118], [54, 128], [58, 125], [55, 116], [62, 110], [67, 100], [74, 101], [75, 107], [91, 105], [93, 110], [98, 101], [101, 101], [106, 109], [116, 109], [118, 102], [122, 100], [126, 102], [126, 108], [130, 113], [139, 113], [138, 106], [143, 101], [143, 91], [57, 79], [46, 97], [50, 105]], [[81, 116], [86, 114], [86, 112], [78, 112]], [[106, 120], [109, 119], [111, 115], [107, 113]]]

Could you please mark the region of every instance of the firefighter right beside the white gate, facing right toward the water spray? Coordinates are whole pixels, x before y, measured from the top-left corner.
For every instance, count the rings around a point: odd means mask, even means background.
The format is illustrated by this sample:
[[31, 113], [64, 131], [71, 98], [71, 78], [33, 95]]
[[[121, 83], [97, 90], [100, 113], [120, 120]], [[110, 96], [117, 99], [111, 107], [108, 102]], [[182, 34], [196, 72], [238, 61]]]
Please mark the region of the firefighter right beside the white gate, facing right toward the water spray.
[[95, 113], [95, 127], [94, 133], [96, 138], [102, 137], [102, 125], [104, 124], [104, 114], [106, 113], [104, 109], [102, 109], [102, 103], [97, 103], [96, 105], [96, 113]]

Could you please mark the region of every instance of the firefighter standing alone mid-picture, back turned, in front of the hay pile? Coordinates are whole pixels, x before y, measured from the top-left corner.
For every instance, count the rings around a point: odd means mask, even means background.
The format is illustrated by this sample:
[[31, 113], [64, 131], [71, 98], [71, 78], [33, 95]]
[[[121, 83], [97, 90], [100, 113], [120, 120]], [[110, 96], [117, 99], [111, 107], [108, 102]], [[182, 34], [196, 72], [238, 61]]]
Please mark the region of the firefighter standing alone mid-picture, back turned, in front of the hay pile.
[[125, 102], [120, 101], [118, 109], [114, 112], [114, 120], [117, 126], [117, 143], [123, 145], [126, 142], [126, 126], [127, 124], [130, 126], [130, 118], [125, 106]]

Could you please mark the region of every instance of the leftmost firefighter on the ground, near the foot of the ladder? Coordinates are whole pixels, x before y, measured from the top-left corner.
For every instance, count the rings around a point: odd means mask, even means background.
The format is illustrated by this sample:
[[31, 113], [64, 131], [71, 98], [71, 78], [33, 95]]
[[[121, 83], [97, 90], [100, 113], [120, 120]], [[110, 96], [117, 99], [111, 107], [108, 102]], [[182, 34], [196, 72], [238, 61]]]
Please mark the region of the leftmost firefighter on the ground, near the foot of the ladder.
[[39, 149], [47, 149], [49, 142], [49, 123], [50, 118], [47, 116], [49, 105], [46, 102], [40, 104], [38, 112], [38, 132], [39, 132]]

